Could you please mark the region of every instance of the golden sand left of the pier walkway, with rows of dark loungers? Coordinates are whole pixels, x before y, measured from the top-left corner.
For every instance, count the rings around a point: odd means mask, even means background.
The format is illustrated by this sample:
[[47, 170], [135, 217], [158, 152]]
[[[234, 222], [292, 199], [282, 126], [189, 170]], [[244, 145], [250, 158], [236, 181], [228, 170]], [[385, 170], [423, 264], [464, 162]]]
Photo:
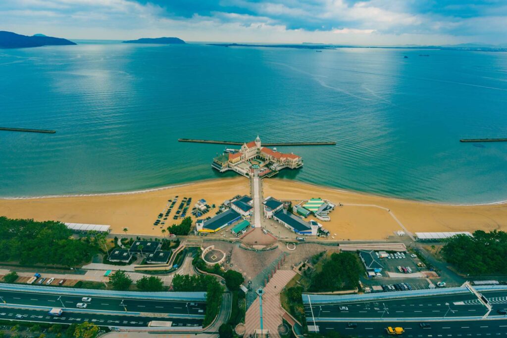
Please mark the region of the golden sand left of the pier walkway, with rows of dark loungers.
[[[192, 197], [192, 206], [200, 199], [205, 199], [209, 205], [219, 205], [237, 194], [249, 194], [249, 191], [248, 180], [238, 176], [139, 193], [0, 200], [0, 215], [39, 221], [106, 224], [115, 234], [124, 234], [123, 228], [128, 228], [129, 235], [162, 236], [162, 229], [154, 227], [153, 222], [167, 208], [167, 200], [178, 196], [164, 228], [181, 221], [172, 216], [184, 197]], [[213, 209], [207, 215], [212, 216], [215, 211]]]

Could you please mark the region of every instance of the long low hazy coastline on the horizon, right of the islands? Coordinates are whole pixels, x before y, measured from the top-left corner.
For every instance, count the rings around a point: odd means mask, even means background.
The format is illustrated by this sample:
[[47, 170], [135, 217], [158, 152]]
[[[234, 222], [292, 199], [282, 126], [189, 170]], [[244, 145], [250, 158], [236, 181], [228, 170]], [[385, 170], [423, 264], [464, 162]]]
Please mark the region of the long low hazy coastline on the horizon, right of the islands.
[[299, 48], [299, 49], [337, 49], [337, 48], [391, 48], [391, 49], [439, 49], [459, 51], [483, 51], [483, 52], [507, 52], [507, 45], [484, 45], [484, 44], [461, 44], [444, 46], [354, 46], [354, 45], [332, 45], [332, 44], [310, 44], [303, 43], [290, 45], [256, 45], [256, 44], [208, 44], [221, 47], [269, 47], [269, 48]]

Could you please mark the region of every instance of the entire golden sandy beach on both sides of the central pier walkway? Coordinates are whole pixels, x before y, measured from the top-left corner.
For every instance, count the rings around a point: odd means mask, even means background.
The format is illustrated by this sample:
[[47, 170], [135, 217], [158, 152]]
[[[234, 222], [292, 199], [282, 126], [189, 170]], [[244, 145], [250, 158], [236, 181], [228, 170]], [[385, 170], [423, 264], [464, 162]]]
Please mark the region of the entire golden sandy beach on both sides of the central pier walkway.
[[[472, 232], [478, 229], [507, 231], [507, 204], [432, 204], [346, 192], [282, 179], [265, 179], [263, 190], [264, 197], [273, 196], [295, 202], [320, 197], [337, 205], [343, 203], [343, 207], [337, 207], [331, 213], [331, 221], [321, 222], [333, 235], [336, 234], [335, 239], [340, 240], [386, 239], [402, 229], [394, 217], [411, 232]], [[108, 224], [112, 227], [112, 233], [122, 234], [123, 228], [128, 228], [128, 234], [132, 235], [161, 236], [161, 229], [153, 227], [153, 222], [166, 208], [168, 199], [174, 196], [179, 196], [179, 201], [183, 197], [192, 197], [194, 201], [203, 198], [209, 205], [219, 205], [238, 194], [249, 194], [248, 180], [244, 177], [202, 181], [135, 194], [0, 200], [0, 215]], [[166, 226], [180, 221], [172, 219], [176, 208], [169, 215]], [[214, 211], [208, 215], [214, 215]]]

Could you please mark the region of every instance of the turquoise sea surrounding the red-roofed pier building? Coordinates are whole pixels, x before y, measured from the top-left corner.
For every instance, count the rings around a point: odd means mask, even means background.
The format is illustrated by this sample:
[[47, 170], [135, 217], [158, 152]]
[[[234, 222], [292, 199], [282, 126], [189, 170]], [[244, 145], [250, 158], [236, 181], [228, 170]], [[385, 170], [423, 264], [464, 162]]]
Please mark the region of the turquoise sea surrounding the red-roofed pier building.
[[259, 134], [337, 141], [279, 147], [305, 162], [280, 177], [427, 201], [507, 200], [507, 142], [458, 141], [507, 137], [506, 53], [78, 43], [0, 50], [0, 126], [57, 130], [0, 131], [0, 196], [220, 177], [210, 161], [223, 145], [177, 138]]

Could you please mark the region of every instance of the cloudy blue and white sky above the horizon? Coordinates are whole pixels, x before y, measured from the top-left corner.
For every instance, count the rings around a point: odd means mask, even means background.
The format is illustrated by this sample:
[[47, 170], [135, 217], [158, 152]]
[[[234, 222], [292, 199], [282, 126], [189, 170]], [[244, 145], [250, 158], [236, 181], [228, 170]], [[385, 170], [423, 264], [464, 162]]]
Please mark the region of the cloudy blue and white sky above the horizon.
[[507, 44], [507, 0], [0, 0], [0, 30], [67, 39]]

